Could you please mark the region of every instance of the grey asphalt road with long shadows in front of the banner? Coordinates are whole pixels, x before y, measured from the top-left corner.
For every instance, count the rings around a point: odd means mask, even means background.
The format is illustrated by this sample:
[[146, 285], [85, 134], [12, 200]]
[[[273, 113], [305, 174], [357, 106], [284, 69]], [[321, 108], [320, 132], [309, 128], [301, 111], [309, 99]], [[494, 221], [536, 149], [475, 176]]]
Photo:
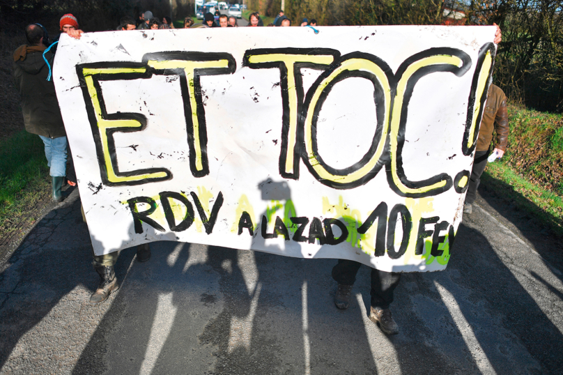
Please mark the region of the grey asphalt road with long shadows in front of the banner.
[[403, 275], [387, 337], [367, 267], [340, 311], [333, 259], [188, 243], [123, 250], [121, 288], [91, 306], [75, 190], [0, 265], [0, 374], [561, 374], [561, 249], [479, 206], [447, 270]]

